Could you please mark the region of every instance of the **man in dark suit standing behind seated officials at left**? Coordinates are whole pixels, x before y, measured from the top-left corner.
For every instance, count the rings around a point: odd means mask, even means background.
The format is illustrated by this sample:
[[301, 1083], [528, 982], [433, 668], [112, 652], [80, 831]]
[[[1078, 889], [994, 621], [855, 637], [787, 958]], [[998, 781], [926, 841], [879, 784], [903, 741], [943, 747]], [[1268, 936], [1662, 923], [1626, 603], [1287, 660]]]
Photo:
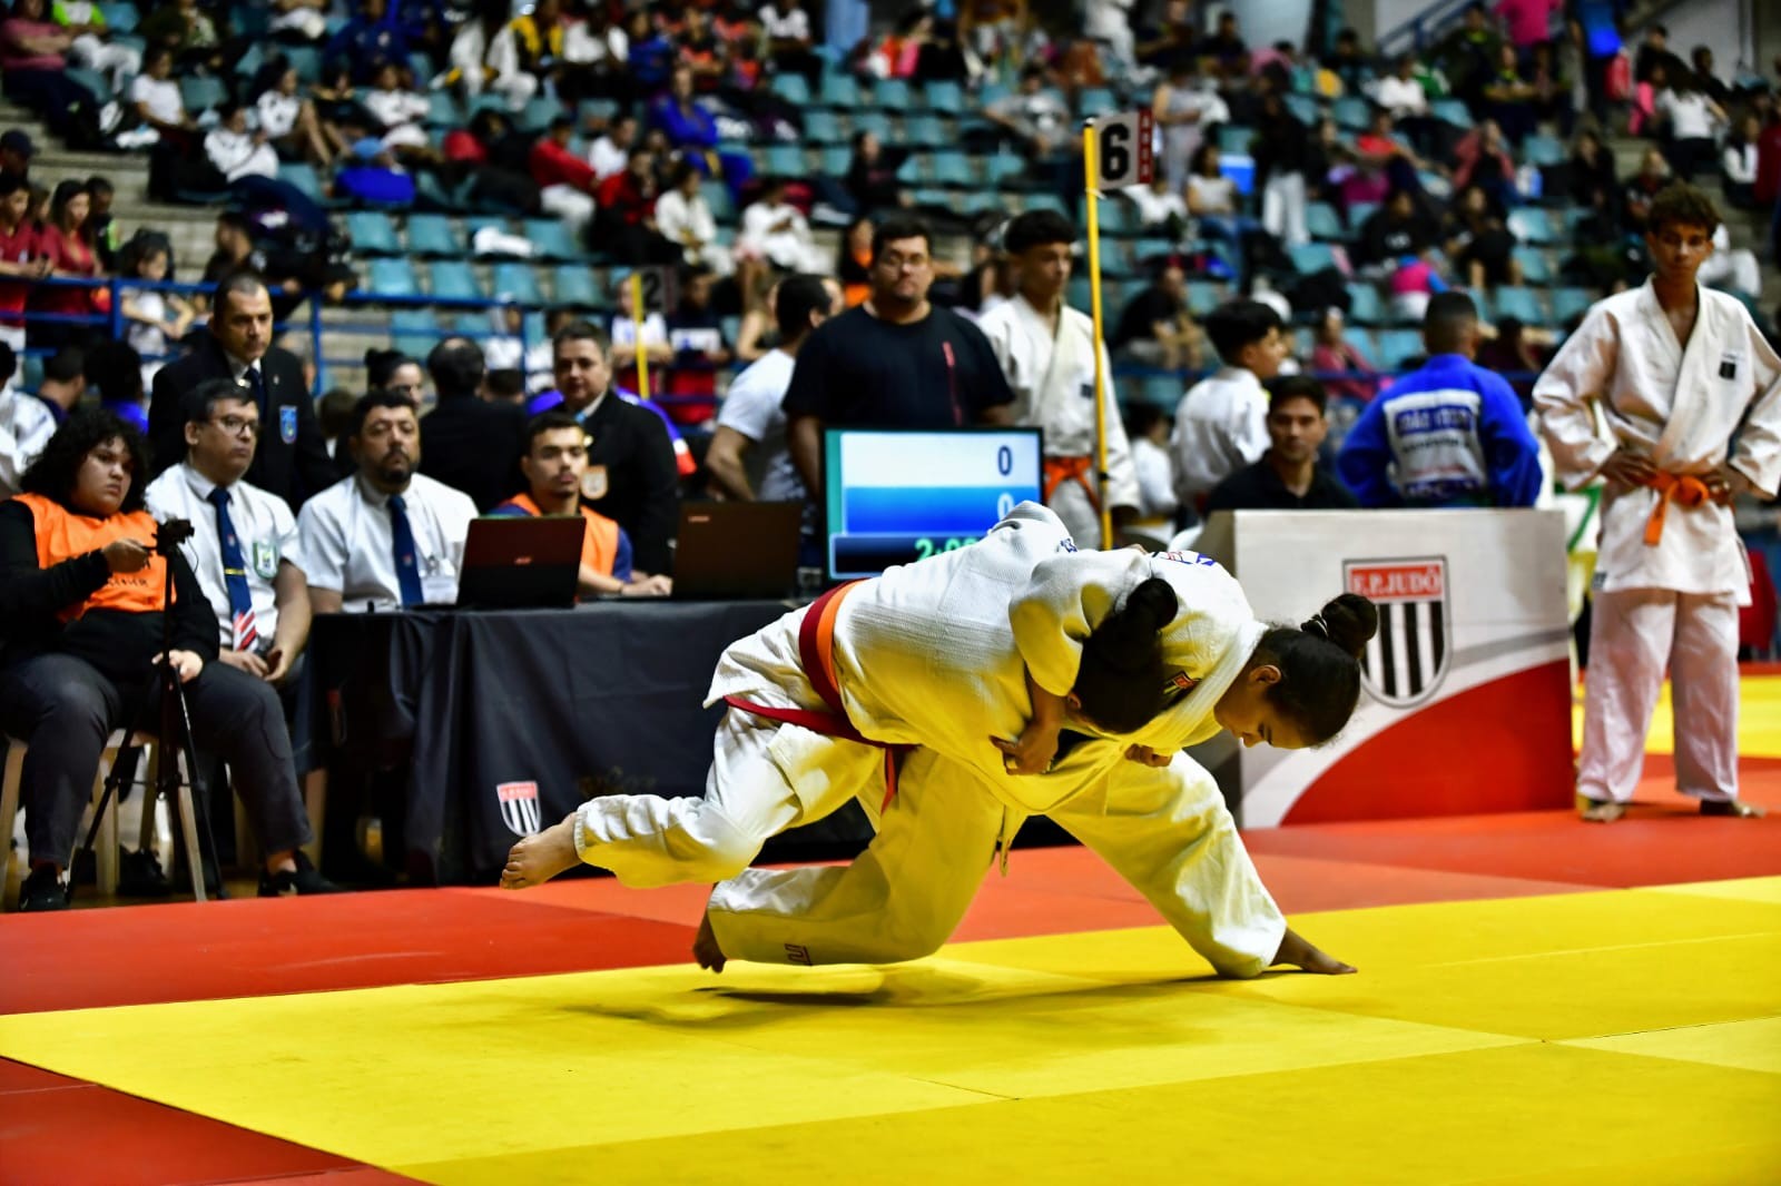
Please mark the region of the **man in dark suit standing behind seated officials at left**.
[[219, 280], [210, 306], [210, 333], [191, 354], [155, 374], [148, 438], [157, 474], [185, 456], [180, 399], [205, 379], [242, 383], [260, 404], [260, 447], [244, 481], [276, 493], [292, 509], [337, 481], [303, 383], [303, 363], [272, 345], [272, 297], [256, 272]]

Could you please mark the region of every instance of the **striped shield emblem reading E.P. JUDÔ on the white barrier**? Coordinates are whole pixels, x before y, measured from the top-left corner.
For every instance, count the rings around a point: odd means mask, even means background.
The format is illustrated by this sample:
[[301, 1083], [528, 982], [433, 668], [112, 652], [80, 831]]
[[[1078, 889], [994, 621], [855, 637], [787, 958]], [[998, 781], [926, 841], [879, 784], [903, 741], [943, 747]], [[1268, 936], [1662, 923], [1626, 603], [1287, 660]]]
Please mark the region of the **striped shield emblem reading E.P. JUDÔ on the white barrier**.
[[1428, 700], [1453, 654], [1446, 557], [1343, 563], [1343, 584], [1378, 605], [1378, 634], [1361, 655], [1361, 682], [1380, 703]]

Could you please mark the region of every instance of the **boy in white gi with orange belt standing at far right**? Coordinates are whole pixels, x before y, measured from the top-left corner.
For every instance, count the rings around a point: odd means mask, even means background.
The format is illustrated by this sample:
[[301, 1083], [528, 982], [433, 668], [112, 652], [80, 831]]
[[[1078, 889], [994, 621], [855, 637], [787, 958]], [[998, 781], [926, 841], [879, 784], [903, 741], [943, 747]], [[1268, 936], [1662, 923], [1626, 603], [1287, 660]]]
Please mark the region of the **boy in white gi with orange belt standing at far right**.
[[[1717, 226], [1699, 189], [1660, 192], [1651, 278], [1590, 308], [1533, 386], [1558, 479], [1606, 481], [1576, 782], [1589, 821], [1626, 812], [1665, 666], [1676, 789], [1706, 816], [1761, 814], [1738, 801], [1738, 605], [1751, 573], [1729, 502], [1776, 497], [1781, 358], [1744, 305], [1696, 283]], [[1592, 402], [1612, 442], [1596, 435]]]

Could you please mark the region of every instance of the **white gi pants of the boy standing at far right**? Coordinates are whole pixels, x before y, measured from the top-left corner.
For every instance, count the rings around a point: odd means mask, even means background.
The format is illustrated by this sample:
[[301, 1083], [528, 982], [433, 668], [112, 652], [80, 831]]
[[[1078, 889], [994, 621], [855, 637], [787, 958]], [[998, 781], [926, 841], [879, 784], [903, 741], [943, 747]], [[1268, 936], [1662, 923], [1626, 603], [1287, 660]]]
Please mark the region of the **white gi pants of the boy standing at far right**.
[[1596, 593], [1576, 789], [1633, 798], [1663, 671], [1676, 712], [1676, 789], [1738, 798], [1738, 605], [1731, 593]]

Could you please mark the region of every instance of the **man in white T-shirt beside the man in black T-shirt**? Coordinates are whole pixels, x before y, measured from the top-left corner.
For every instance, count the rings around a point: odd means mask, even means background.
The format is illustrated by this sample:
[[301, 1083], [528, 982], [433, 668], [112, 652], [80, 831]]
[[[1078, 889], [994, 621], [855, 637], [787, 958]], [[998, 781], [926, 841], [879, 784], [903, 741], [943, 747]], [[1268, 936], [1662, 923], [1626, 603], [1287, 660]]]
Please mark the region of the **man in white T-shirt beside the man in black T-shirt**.
[[[817, 276], [787, 276], [771, 292], [778, 345], [730, 383], [718, 408], [718, 427], [705, 451], [712, 481], [743, 502], [807, 502], [803, 481], [785, 438], [780, 406], [805, 338], [841, 312], [830, 285]], [[814, 525], [810, 525], [814, 529]]]

